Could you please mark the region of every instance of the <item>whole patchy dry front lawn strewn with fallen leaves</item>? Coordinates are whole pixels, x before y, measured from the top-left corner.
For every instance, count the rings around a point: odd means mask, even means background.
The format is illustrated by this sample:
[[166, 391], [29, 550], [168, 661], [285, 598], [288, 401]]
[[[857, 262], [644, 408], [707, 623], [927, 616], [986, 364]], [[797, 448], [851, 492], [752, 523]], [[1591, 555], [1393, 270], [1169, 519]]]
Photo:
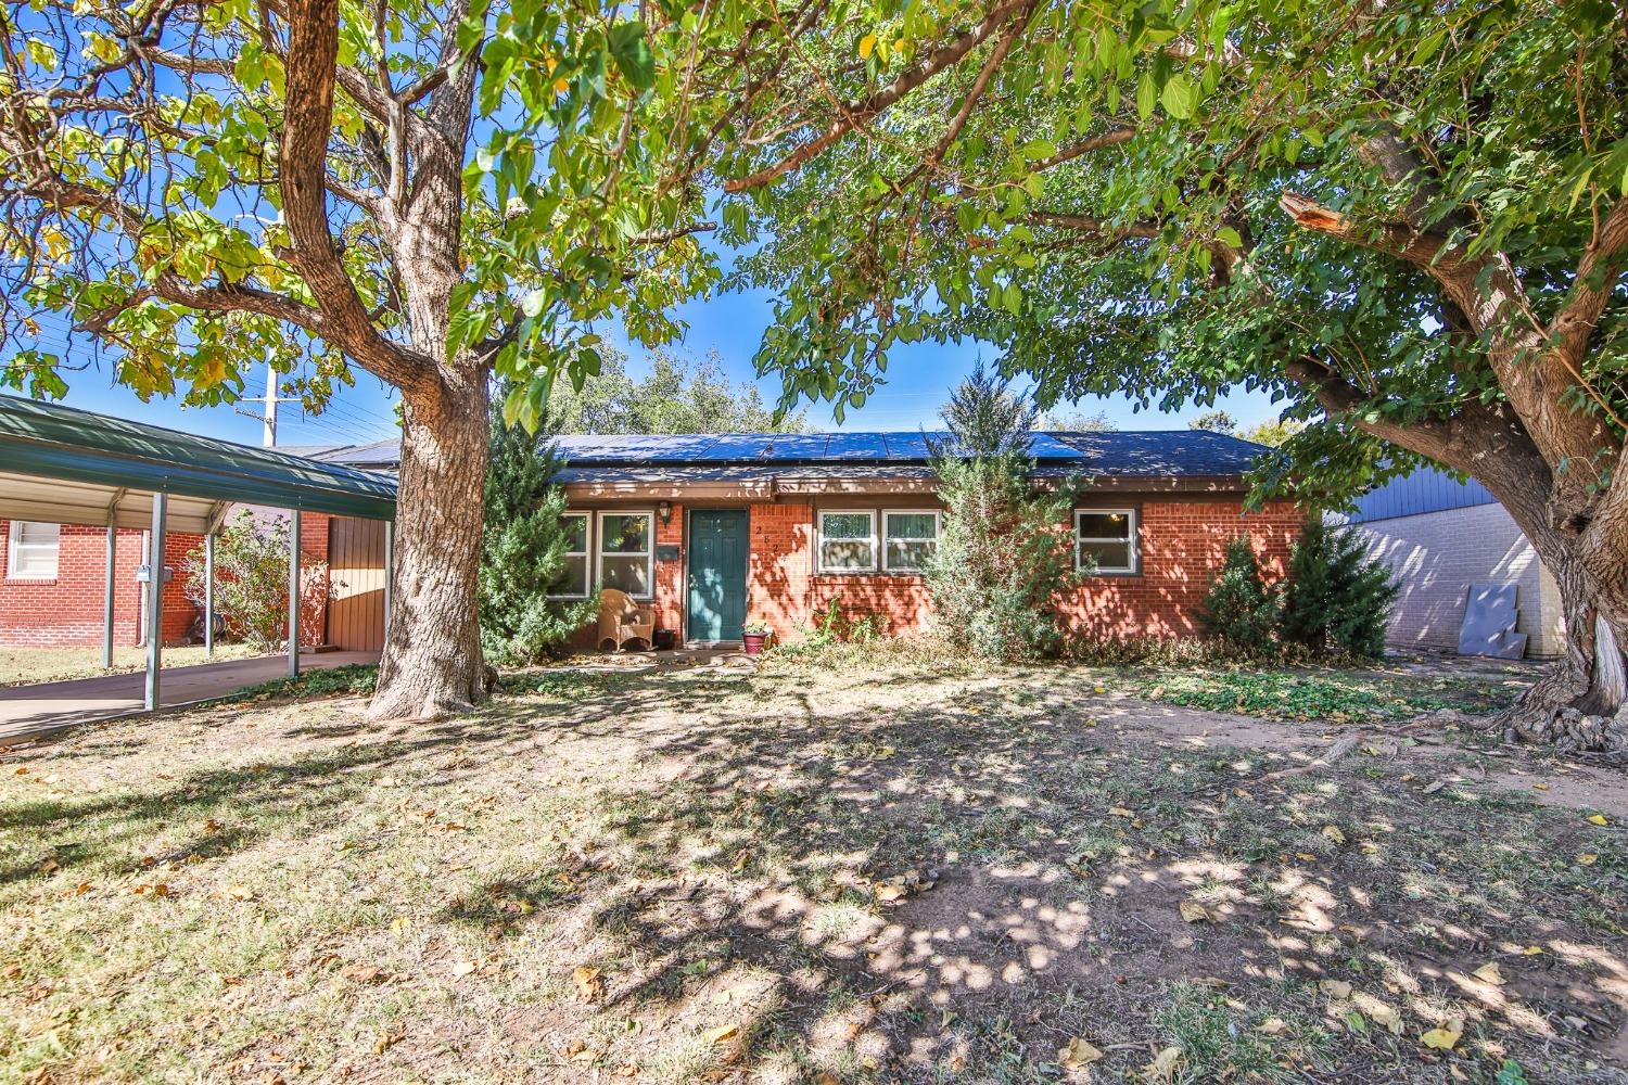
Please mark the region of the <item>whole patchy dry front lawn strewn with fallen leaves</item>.
[[1620, 776], [825, 664], [8, 752], [0, 1080], [1628, 1082]]

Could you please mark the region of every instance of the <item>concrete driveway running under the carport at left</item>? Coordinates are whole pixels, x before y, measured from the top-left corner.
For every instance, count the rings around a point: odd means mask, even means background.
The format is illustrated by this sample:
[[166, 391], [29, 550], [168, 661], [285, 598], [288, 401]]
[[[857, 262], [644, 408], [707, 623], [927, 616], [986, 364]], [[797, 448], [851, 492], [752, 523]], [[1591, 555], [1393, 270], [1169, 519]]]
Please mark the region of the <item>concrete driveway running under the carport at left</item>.
[[[300, 657], [301, 670], [376, 662], [379, 662], [378, 652], [317, 652]], [[160, 701], [164, 708], [207, 701], [287, 673], [287, 656], [164, 669]], [[0, 745], [140, 712], [145, 685], [147, 675], [135, 672], [0, 690]]]

